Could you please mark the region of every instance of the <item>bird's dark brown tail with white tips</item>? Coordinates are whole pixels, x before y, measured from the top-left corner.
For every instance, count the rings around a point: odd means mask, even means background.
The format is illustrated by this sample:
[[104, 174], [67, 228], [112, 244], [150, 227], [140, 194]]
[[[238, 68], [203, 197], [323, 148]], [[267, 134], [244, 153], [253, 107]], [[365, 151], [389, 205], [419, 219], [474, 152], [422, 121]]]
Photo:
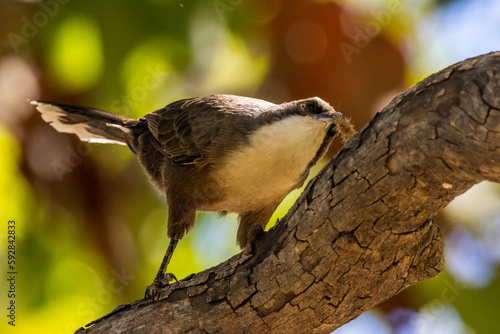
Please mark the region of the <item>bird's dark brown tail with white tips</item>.
[[91, 143], [128, 144], [136, 120], [106, 111], [50, 101], [30, 101], [45, 122], [59, 132], [76, 134]]

